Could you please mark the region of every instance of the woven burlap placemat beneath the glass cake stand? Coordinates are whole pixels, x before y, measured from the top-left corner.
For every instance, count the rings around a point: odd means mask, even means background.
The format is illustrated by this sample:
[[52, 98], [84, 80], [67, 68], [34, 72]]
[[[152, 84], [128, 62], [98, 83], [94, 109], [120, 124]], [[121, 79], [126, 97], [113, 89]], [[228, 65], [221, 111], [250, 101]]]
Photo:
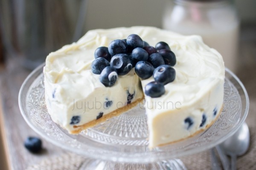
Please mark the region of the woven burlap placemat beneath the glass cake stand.
[[[256, 130], [255, 127], [249, 127], [249, 129], [250, 147], [244, 156], [237, 158], [236, 165], [238, 170], [256, 170]], [[211, 169], [210, 150], [182, 157], [180, 159], [186, 165], [188, 170]], [[60, 156], [44, 159], [40, 163], [28, 167], [27, 170], [80, 170], [86, 160], [87, 158], [74, 153], [64, 153]], [[219, 164], [221, 165], [220, 160]]]

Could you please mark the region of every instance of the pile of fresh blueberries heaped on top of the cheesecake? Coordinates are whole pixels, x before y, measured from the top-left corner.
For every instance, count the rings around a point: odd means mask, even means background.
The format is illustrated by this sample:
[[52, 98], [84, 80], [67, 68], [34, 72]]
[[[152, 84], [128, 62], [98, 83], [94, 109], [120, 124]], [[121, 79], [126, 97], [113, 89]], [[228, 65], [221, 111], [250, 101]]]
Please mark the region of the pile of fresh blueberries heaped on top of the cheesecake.
[[145, 86], [145, 94], [157, 98], [165, 93], [164, 85], [175, 79], [175, 54], [165, 42], [155, 47], [143, 41], [139, 35], [131, 34], [124, 40], [113, 40], [108, 47], [95, 50], [91, 69], [100, 75], [100, 81], [107, 87], [115, 84], [118, 75], [126, 75], [135, 67], [136, 74], [154, 81]]

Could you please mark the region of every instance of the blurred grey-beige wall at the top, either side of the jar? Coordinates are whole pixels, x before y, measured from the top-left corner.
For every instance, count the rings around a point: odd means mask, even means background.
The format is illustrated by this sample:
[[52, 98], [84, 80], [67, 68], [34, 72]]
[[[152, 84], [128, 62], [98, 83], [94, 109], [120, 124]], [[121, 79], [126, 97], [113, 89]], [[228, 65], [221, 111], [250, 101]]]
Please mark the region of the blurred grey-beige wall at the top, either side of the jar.
[[[162, 12], [171, 0], [88, 0], [85, 30], [119, 26], [162, 26]], [[256, 21], [256, 0], [235, 0], [241, 20]]]

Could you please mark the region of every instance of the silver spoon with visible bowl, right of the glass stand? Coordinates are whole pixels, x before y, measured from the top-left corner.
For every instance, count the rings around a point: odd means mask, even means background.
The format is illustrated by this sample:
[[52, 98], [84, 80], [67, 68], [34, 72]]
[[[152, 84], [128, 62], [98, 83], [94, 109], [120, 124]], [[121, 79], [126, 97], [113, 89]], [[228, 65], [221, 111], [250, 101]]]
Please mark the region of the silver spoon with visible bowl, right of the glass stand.
[[244, 122], [237, 132], [220, 144], [221, 149], [231, 157], [231, 170], [236, 170], [236, 157], [242, 156], [248, 150], [250, 133]]

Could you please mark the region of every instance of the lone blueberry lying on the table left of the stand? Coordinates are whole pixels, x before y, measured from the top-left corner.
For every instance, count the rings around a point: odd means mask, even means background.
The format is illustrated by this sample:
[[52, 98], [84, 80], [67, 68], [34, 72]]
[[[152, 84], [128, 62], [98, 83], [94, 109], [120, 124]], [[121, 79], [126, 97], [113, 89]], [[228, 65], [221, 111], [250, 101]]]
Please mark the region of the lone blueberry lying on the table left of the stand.
[[37, 137], [28, 137], [24, 142], [24, 146], [32, 153], [38, 153], [42, 149], [42, 141]]

